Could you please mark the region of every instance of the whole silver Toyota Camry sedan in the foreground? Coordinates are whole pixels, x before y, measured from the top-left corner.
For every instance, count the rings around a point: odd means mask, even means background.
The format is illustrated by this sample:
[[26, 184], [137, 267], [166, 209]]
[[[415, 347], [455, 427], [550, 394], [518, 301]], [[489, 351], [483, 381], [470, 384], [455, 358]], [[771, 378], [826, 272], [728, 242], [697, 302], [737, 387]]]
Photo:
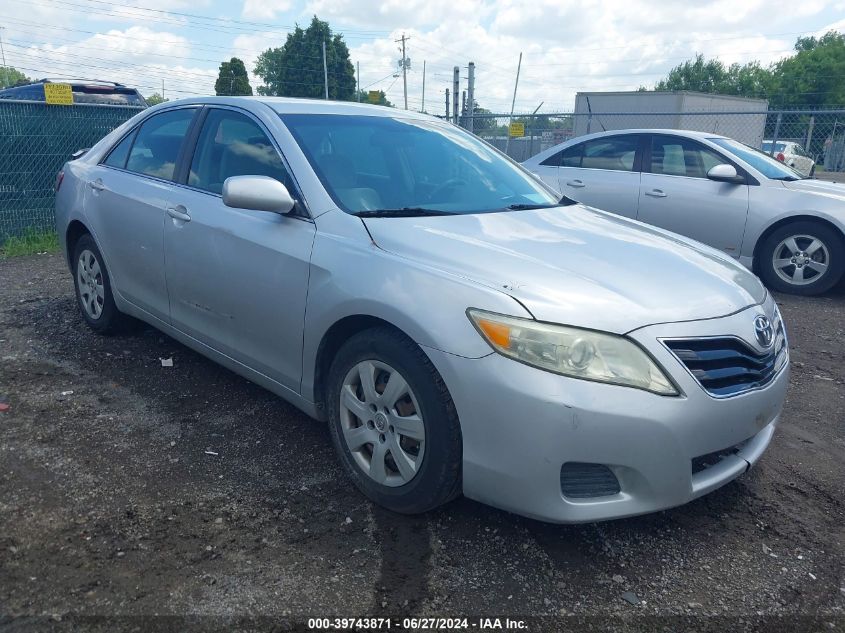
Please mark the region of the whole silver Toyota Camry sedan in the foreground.
[[92, 329], [141, 319], [327, 421], [398, 512], [650, 512], [744, 473], [780, 419], [786, 332], [754, 275], [427, 116], [177, 101], [57, 182]]

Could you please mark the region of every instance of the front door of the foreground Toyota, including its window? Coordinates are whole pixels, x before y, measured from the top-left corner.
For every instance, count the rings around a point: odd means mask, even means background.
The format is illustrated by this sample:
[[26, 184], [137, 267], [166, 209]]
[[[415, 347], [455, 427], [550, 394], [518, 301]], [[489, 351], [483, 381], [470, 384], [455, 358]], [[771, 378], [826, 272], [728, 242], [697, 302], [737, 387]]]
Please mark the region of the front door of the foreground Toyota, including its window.
[[223, 204], [230, 176], [271, 176], [298, 194], [264, 128], [244, 112], [212, 108], [187, 186], [165, 221], [174, 327], [299, 391], [313, 222], [302, 215]]

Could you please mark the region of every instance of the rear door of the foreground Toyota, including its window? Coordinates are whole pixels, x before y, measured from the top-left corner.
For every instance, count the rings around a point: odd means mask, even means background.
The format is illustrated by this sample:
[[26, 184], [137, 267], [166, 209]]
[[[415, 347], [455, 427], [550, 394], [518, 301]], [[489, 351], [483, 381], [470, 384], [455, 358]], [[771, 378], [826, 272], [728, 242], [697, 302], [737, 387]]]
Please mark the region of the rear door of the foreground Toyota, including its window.
[[169, 322], [164, 209], [198, 108], [155, 114], [127, 134], [91, 172], [86, 212], [125, 300]]

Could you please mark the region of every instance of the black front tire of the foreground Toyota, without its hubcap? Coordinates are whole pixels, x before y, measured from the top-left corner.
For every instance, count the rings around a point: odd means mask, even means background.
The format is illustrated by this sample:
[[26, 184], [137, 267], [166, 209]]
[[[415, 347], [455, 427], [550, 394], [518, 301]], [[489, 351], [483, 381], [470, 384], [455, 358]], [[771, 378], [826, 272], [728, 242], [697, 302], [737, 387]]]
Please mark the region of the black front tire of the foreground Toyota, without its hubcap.
[[[422, 464], [408, 483], [391, 487], [372, 479], [356, 462], [344, 439], [341, 389], [347, 374], [363, 361], [394, 368], [416, 396], [425, 427], [425, 450]], [[408, 337], [389, 327], [365, 330], [351, 337], [332, 362], [326, 400], [329, 429], [343, 469], [364, 495], [394, 512], [418, 514], [460, 494], [462, 440], [458, 414], [440, 374]]]

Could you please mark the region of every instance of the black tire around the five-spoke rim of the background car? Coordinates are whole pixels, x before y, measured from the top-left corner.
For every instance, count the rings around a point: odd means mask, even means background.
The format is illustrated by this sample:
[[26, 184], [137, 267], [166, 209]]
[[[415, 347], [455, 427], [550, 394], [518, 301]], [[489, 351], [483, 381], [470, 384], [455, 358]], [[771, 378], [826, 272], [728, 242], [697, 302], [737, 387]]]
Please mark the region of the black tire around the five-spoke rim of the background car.
[[[804, 284], [790, 283], [784, 279], [778, 274], [773, 261], [776, 255], [781, 259], [788, 258], [789, 249], [782, 245], [784, 240], [795, 236], [801, 236], [797, 242], [800, 248], [806, 248], [810, 238], [819, 240], [824, 245], [828, 259], [827, 269], [823, 274], [817, 274], [812, 269], [804, 272], [804, 274], [813, 275]], [[778, 253], [775, 253], [776, 249]], [[775, 229], [760, 245], [758, 256], [760, 277], [771, 290], [796, 295], [818, 295], [833, 288], [842, 278], [842, 273], [845, 271], [845, 240], [841, 233], [820, 222], [800, 220]], [[825, 253], [816, 251], [813, 258], [823, 260]], [[788, 275], [794, 270], [793, 266], [784, 269], [783, 272]]]

